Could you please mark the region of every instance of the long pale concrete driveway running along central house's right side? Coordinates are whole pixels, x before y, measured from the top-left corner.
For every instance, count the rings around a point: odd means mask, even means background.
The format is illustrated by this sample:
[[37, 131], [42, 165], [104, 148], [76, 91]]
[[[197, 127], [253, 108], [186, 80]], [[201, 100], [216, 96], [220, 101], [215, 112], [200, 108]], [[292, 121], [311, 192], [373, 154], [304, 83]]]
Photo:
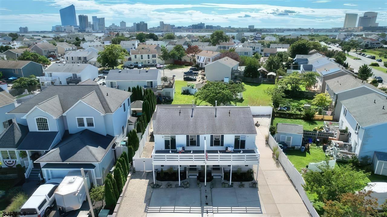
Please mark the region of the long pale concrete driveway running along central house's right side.
[[260, 123], [260, 126], [256, 127], [257, 137], [255, 138], [255, 144], [260, 153], [258, 186], [264, 214], [281, 217], [309, 217], [300, 195], [281, 164], [272, 157], [271, 148], [265, 142], [269, 136], [270, 117], [255, 116], [254, 122], [257, 121]]

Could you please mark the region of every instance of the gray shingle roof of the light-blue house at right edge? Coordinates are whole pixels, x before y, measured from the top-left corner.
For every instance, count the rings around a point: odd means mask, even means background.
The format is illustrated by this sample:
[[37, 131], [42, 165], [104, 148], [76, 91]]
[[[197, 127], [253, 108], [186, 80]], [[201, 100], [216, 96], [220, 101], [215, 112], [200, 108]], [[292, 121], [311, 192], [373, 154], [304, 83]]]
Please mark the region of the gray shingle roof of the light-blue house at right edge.
[[342, 100], [341, 103], [361, 127], [387, 122], [387, 100], [378, 93]]

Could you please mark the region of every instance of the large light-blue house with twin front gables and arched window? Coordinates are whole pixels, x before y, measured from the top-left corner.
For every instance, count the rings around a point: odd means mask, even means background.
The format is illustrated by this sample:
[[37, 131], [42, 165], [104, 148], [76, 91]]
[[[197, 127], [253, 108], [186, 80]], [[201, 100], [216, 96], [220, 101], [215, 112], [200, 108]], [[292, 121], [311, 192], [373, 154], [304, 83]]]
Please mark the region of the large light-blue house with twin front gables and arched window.
[[31, 170], [47, 181], [84, 168], [94, 184], [102, 185], [114, 164], [114, 149], [127, 134], [130, 95], [91, 80], [51, 85], [8, 112], [17, 123], [9, 129], [27, 128], [18, 130], [15, 142], [18, 151], [27, 151], [26, 178]]

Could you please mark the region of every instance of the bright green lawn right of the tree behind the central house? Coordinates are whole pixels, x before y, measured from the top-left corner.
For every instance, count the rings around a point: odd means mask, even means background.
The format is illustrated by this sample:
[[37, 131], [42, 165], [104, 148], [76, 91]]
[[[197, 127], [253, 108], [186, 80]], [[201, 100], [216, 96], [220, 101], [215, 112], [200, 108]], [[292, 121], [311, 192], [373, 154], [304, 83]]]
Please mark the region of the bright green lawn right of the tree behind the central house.
[[272, 85], [245, 82], [246, 91], [243, 92], [243, 100], [236, 102], [237, 106], [271, 106], [271, 97], [265, 90]]

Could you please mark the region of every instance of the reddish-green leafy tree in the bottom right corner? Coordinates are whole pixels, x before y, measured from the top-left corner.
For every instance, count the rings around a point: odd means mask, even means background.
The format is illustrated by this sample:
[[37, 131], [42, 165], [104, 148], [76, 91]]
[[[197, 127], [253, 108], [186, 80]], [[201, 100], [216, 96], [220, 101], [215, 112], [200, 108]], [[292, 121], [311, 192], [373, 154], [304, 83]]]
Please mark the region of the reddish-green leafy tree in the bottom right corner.
[[377, 216], [378, 202], [371, 197], [372, 191], [359, 193], [344, 193], [339, 201], [329, 200], [325, 203], [323, 217], [372, 217]]

